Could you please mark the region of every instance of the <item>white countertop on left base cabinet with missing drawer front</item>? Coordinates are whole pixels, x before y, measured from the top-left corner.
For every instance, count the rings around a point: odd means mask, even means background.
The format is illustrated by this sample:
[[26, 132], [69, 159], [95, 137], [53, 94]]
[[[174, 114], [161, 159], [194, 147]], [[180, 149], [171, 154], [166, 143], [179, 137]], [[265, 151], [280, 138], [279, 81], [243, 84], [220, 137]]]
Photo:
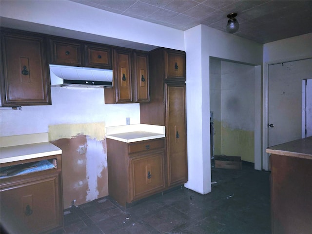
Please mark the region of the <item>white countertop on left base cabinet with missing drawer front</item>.
[[60, 155], [62, 150], [50, 142], [16, 145], [0, 148], [0, 163]]

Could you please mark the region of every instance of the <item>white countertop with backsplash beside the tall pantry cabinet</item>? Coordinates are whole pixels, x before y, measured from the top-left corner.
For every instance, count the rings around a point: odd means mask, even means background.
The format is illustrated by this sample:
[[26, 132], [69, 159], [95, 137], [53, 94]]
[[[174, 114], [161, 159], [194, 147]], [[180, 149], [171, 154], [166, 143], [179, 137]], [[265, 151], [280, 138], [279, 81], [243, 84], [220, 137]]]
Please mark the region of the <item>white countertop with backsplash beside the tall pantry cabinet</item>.
[[126, 143], [165, 137], [165, 127], [150, 124], [132, 124], [106, 127], [106, 137]]

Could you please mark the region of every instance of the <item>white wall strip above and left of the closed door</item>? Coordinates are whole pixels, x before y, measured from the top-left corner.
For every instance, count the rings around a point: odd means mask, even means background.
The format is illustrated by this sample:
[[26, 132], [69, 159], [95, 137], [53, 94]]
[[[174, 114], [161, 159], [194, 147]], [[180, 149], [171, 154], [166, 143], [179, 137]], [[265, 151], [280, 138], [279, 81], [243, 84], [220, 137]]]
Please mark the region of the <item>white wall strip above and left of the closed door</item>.
[[282, 39], [263, 45], [263, 118], [262, 118], [262, 164], [269, 170], [268, 147], [268, 71], [269, 65], [312, 58], [312, 33]]

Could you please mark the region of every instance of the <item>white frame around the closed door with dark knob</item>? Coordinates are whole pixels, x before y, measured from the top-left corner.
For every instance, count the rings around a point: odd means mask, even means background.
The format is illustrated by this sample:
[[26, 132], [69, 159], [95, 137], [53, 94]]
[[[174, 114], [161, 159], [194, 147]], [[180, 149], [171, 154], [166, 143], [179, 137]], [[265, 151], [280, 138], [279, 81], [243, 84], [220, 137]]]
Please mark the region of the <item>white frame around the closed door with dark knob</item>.
[[274, 61], [264, 62], [263, 63], [263, 87], [262, 87], [262, 110], [263, 110], [263, 116], [262, 116], [262, 169], [265, 171], [270, 171], [270, 160], [269, 160], [269, 154], [267, 154], [266, 149], [269, 146], [269, 131], [268, 131], [268, 121], [269, 121], [269, 115], [268, 115], [268, 88], [269, 88], [269, 65], [274, 65], [278, 63], [283, 62], [292, 62], [292, 61], [298, 61], [303, 59], [312, 59], [311, 57], [302, 57], [302, 56], [295, 56], [293, 58], [290, 58], [288, 60], [283, 59], [277, 59]]

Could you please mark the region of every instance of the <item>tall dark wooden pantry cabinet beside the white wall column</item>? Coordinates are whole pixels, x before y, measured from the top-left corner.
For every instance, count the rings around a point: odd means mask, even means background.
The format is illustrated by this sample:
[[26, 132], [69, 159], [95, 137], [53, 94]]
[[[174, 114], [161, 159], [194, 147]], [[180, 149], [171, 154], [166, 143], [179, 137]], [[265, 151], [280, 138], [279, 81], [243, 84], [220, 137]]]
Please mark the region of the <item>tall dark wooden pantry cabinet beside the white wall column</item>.
[[143, 124], [165, 126], [166, 187], [188, 180], [185, 52], [158, 48], [149, 54], [150, 103], [140, 103]]

